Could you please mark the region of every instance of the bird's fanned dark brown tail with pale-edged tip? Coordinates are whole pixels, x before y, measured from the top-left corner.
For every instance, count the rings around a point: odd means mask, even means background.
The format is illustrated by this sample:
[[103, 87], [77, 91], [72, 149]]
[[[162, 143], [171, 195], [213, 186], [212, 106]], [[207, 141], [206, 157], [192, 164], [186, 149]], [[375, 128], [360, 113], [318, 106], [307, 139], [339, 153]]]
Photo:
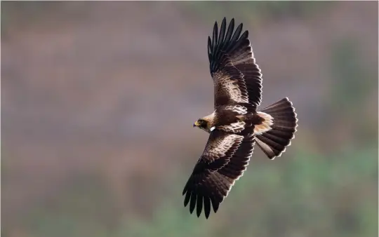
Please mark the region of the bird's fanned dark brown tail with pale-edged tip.
[[286, 151], [286, 147], [291, 145], [298, 126], [298, 118], [296, 118], [295, 108], [288, 98], [265, 107], [261, 112], [270, 115], [273, 124], [270, 126], [270, 130], [256, 134], [255, 141], [268, 158], [274, 159], [281, 156]]

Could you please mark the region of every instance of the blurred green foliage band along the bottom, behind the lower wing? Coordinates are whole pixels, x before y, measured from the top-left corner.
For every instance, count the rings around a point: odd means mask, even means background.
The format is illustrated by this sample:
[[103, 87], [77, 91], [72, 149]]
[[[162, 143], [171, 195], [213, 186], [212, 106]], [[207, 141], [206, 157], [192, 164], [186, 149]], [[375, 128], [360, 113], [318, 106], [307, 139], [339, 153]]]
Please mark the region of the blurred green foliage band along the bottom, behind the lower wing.
[[[331, 155], [298, 152], [292, 158], [248, 166], [244, 177], [206, 220], [182, 206], [182, 179], [173, 180], [165, 201], [149, 219], [127, 213], [113, 229], [105, 223], [112, 208], [98, 179], [71, 182], [55, 209], [37, 209], [26, 220], [34, 236], [375, 236], [377, 231], [377, 149], [350, 149]], [[185, 172], [183, 172], [185, 173]], [[81, 178], [80, 180], [83, 180]], [[357, 194], [358, 193], [358, 194]], [[354, 194], [354, 195], [352, 195]], [[49, 206], [49, 205], [44, 205]], [[57, 211], [59, 210], [59, 211]], [[232, 224], [231, 224], [232, 223]], [[273, 227], [274, 226], [274, 227]]]

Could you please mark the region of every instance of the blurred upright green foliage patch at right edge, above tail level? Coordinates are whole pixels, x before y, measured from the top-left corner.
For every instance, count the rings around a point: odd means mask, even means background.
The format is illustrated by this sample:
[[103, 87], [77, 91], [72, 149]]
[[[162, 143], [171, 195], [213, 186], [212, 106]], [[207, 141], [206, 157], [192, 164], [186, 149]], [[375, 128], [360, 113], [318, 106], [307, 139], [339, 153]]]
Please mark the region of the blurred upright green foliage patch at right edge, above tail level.
[[[329, 122], [324, 128], [333, 133], [332, 127], [344, 118], [345, 129], [351, 131], [355, 142], [365, 143], [378, 137], [371, 118], [373, 109], [378, 108], [365, 108], [367, 96], [378, 93], [378, 74], [364, 63], [359, 46], [354, 38], [343, 38], [331, 45], [328, 65], [333, 79], [330, 97], [325, 101], [328, 113], [324, 116]], [[358, 122], [361, 118], [366, 122]]]

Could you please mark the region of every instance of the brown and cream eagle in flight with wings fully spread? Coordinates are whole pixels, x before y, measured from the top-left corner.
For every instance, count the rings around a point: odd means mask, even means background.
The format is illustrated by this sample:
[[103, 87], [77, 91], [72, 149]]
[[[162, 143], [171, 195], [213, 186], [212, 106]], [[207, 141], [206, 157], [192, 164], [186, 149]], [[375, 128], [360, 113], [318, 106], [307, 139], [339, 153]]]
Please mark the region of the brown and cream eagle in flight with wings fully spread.
[[183, 190], [184, 205], [197, 217], [217, 212], [234, 182], [246, 170], [256, 142], [270, 159], [286, 150], [298, 126], [288, 98], [257, 110], [262, 100], [262, 74], [255, 62], [248, 31], [234, 19], [217, 22], [208, 36], [208, 58], [214, 86], [214, 111], [194, 127], [209, 133], [208, 142]]

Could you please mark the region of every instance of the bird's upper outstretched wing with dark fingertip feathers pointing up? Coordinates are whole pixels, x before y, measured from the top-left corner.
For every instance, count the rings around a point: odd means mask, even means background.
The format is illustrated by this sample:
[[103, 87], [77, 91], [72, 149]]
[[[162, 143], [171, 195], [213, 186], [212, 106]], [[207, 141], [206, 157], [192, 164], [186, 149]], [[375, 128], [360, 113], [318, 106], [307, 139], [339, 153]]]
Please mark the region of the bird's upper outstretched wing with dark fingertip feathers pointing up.
[[213, 36], [208, 37], [208, 57], [215, 86], [215, 107], [223, 104], [251, 104], [255, 109], [262, 97], [262, 74], [255, 63], [248, 31], [242, 24], [234, 31], [234, 19], [226, 30], [224, 18], [218, 33], [215, 22]]

